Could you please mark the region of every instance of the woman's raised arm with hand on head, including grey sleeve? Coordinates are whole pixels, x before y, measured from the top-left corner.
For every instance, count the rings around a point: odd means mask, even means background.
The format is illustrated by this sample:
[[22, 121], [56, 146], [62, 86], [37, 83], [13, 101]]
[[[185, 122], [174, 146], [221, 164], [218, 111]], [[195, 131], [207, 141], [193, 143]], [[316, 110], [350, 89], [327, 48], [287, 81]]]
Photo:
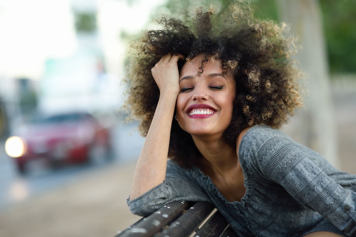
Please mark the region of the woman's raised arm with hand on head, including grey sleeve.
[[172, 118], [180, 91], [178, 59], [184, 60], [184, 56], [164, 55], [152, 68], [160, 97], [127, 199], [127, 205], [135, 215], [150, 215], [172, 201], [209, 201], [186, 170], [172, 161], [167, 163]]

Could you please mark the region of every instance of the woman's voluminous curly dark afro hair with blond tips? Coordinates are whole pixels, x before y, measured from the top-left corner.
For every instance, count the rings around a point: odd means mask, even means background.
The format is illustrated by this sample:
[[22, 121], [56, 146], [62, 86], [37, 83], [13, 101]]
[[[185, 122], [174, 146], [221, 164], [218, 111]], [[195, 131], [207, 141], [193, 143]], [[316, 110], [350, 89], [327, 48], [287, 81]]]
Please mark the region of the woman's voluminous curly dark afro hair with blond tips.
[[[301, 73], [290, 59], [296, 52], [294, 38], [283, 35], [284, 24], [255, 19], [248, 1], [236, 0], [218, 14], [213, 8], [184, 9], [177, 18], [163, 16], [157, 22], [159, 29], [144, 31], [131, 45], [135, 52], [130, 54], [127, 75], [130, 89], [125, 108], [131, 118], [141, 120], [143, 136], [159, 99], [151, 68], [169, 52], [183, 54], [187, 62], [205, 55], [198, 75], [209, 60], [220, 60], [223, 72], [234, 75], [234, 109], [224, 132], [224, 140], [232, 147], [242, 129], [256, 124], [280, 128], [294, 108], [302, 106], [296, 85]], [[179, 70], [183, 64], [178, 61]], [[173, 118], [168, 156], [185, 167], [201, 158], [192, 136]]]

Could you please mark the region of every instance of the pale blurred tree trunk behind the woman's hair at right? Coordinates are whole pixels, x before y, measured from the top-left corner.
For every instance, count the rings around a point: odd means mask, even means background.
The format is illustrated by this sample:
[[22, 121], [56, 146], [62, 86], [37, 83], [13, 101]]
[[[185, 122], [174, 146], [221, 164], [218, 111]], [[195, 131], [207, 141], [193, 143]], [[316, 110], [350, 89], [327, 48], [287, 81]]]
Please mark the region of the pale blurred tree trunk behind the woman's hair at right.
[[316, 0], [277, 0], [277, 6], [281, 19], [290, 25], [291, 33], [299, 36], [302, 50], [297, 59], [309, 77], [306, 80], [309, 90], [309, 97], [305, 98], [306, 110], [292, 120], [294, 127], [289, 126], [288, 130], [297, 134], [299, 142], [340, 168], [319, 3]]

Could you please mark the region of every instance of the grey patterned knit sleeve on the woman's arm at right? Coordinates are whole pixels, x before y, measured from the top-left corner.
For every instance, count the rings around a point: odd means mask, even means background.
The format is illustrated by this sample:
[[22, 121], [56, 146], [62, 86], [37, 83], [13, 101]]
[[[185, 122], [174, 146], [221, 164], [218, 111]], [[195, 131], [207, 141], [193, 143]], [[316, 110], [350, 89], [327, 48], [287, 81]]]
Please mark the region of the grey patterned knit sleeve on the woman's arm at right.
[[254, 143], [260, 143], [251, 146], [250, 162], [257, 172], [282, 185], [295, 200], [319, 212], [345, 235], [356, 236], [356, 193], [327, 176], [311, 158], [315, 152], [287, 136], [271, 134], [260, 139], [259, 133]]

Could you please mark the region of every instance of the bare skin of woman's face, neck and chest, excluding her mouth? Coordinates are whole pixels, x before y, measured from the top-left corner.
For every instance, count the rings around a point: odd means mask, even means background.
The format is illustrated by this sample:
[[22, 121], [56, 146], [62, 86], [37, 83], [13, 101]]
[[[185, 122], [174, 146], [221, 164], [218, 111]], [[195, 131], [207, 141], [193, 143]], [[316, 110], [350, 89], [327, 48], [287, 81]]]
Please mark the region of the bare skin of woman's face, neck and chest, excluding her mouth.
[[[211, 178], [227, 200], [240, 201], [246, 188], [238, 153], [223, 140], [223, 133], [231, 122], [235, 80], [231, 74], [222, 75], [220, 60], [204, 63], [203, 73], [195, 78], [201, 56], [185, 63], [180, 72], [177, 120], [180, 127], [192, 135], [204, 157], [199, 168]], [[191, 118], [187, 109], [194, 104], [208, 104], [215, 109], [215, 113], [207, 118]]]

